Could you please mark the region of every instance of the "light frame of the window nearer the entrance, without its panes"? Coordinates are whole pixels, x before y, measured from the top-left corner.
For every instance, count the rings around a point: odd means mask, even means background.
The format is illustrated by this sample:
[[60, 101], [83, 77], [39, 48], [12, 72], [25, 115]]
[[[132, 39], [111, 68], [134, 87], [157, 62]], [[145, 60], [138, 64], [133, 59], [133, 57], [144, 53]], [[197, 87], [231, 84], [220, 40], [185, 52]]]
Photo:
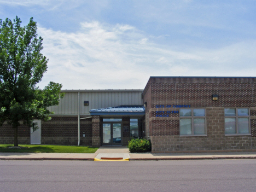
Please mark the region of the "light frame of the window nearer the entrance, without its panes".
[[[185, 108], [188, 109], [188, 108]], [[181, 109], [179, 109], [179, 136], [180, 137], [193, 137], [193, 136], [207, 136], [207, 127], [206, 127], [206, 108], [189, 108], [191, 109], [191, 116], [181, 116]], [[205, 109], [205, 116], [194, 116], [194, 109]], [[195, 119], [205, 119], [205, 134], [195, 134], [194, 130], [194, 118]], [[181, 135], [181, 119], [191, 119], [191, 135]]]

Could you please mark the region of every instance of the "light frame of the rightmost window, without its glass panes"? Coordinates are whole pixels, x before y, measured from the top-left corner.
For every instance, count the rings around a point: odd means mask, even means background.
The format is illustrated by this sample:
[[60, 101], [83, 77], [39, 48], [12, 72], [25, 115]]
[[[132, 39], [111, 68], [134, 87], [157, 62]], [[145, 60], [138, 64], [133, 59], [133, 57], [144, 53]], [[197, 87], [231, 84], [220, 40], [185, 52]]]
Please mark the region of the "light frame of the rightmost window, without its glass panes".
[[[225, 115], [225, 109], [236, 109], [236, 115]], [[238, 109], [248, 109], [248, 115], [238, 115]], [[236, 118], [236, 133], [226, 133], [225, 130], [225, 118]], [[239, 133], [238, 128], [238, 118], [248, 118], [249, 123], [249, 133]], [[251, 135], [251, 115], [250, 115], [250, 108], [249, 107], [229, 107], [224, 108], [224, 131], [225, 136], [239, 136], [239, 135]]]

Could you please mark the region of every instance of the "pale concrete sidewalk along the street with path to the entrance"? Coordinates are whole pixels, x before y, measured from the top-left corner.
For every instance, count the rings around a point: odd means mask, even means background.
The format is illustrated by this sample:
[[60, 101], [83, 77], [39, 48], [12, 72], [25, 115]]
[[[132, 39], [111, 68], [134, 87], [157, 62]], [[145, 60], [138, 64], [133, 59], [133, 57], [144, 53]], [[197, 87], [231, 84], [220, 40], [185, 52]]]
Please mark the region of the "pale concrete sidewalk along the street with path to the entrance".
[[0, 153], [0, 160], [130, 160], [256, 159], [256, 152], [232, 153], [130, 153], [127, 147], [100, 147], [95, 153]]

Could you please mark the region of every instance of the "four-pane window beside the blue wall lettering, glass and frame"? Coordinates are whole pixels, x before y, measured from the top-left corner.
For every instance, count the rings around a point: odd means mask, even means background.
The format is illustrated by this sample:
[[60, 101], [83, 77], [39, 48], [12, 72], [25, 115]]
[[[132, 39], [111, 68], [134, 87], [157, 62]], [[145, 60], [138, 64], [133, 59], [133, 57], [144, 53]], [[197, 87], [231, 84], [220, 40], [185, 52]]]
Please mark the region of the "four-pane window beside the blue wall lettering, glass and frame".
[[205, 109], [179, 109], [180, 135], [206, 135]]

